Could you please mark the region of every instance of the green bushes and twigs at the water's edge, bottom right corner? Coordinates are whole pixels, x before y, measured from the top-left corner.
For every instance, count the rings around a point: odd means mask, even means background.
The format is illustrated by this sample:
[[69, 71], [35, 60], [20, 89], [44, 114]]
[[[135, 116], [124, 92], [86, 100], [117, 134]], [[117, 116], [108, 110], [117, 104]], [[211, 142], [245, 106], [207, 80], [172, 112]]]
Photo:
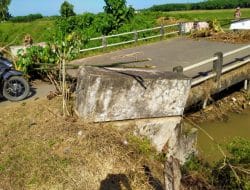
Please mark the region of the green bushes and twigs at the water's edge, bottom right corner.
[[227, 150], [228, 157], [213, 166], [191, 156], [182, 168], [183, 174], [203, 176], [215, 189], [249, 189], [250, 140], [235, 138], [227, 145]]

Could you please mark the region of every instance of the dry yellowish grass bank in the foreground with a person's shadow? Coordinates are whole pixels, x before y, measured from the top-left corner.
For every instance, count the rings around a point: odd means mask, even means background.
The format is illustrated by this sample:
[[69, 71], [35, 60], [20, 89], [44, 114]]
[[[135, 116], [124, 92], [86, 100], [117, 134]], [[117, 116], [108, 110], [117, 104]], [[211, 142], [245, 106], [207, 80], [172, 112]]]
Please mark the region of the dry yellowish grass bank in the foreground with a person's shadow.
[[150, 190], [160, 184], [161, 163], [148, 141], [112, 126], [65, 120], [59, 108], [57, 98], [1, 107], [0, 189]]

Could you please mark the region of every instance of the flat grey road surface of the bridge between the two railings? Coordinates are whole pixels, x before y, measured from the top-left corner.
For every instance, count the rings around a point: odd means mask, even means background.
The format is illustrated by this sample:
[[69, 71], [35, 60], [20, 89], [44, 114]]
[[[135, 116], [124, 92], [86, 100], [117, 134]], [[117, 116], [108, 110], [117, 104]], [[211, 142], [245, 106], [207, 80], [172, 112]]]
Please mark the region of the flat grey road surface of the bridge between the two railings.
[[[75, 60], [72, 63], [79, 65], [105, 65], [119, 67], [151, 67], [158, 70], [172, 71], [175, 66], [189, 66], [205, 59], [211, 58], [216, 52], [229, 52], [246, 44], [229, 44], [223, 42], [213, 42], [208, 40], [192, 40], [188, 38], [175, 38], [160, 41], [152, 44], [137, 46], [106, 53], [103, 55]], [[229, 56], [225, 59], [225, 64], [237, 59], [249, 58], [249, 49]], [[138, 62], [135, 62], [137, 60]], [[196, 76], [200, 72], [208, 71], [211, 65], [202, 66], [189, 71], [190, 77]], [[75, 75], [76, 71], [70, 74]]]

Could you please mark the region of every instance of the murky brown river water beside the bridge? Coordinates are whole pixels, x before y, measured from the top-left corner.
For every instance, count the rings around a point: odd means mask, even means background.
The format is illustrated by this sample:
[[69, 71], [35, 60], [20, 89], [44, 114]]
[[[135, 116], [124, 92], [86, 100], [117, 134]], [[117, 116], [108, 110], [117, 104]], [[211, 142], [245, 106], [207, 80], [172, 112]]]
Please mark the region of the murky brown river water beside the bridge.
[[[235, 137], [243, 137], [250, 140], [250, 109], [241, 114], [231, 114], [227, 122], [215, 121], [200, 125], [206, 130], [216, 142], [222, 147]], [[198, 130], [198, 151], [200, 156], [212, 163], [219, 160], [222, 154], [218, 151], [207, 135]], [[225, 147], [225, 146], [224, 146]]]

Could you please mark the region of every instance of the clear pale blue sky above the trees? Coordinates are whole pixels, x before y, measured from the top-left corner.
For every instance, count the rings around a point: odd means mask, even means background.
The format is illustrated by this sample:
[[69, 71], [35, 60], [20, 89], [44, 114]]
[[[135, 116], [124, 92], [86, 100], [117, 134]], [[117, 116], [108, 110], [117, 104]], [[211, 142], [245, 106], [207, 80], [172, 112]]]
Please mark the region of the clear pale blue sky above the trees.
[[[148, 8], [152, 5], [166, 3], [187, 3], [200, 0], [127, 0], [127, 5], [135, 9]], [[59, 15], [59, 9], [64, 0], [12, 0], [9, 11], [13, 16], [41, 13], [44, 16]], [[68, 0], [74, 5], [76, 13], [103, 11], [104, 0]]]

